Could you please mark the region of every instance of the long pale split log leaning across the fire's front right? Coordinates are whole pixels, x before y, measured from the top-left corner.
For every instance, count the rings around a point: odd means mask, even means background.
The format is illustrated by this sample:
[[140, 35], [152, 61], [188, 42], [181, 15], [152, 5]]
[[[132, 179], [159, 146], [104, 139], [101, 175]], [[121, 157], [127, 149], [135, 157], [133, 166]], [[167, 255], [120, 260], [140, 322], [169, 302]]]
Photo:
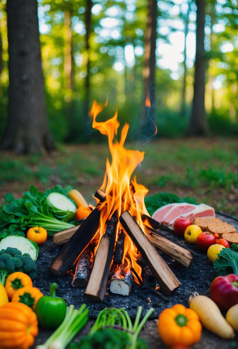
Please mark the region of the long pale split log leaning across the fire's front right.
[[131, 214], [125, 211], [122, 213], [119, 220], [122, 227], [131, 237], [144, 260], [147, 262], [159, 286], [170, 295], [173, 290], [181, 285], [180, 281], [173, 274], [161, 255], [158, 254], [146, 235], [144, 235], [144, 232]]

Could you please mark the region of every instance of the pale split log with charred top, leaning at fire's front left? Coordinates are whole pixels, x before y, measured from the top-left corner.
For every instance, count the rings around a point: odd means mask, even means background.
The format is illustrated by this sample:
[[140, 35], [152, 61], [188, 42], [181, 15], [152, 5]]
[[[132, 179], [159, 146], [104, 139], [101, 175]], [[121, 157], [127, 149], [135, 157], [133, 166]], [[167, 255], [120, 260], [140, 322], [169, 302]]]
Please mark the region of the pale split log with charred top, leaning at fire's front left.
[[101, 302], [103, 300], [116, 240], [117, 223], [118, 218], [115, 214], [107, 221], [106, 230], [99, 242], [94, 265], [84, 292], [85, 297]]

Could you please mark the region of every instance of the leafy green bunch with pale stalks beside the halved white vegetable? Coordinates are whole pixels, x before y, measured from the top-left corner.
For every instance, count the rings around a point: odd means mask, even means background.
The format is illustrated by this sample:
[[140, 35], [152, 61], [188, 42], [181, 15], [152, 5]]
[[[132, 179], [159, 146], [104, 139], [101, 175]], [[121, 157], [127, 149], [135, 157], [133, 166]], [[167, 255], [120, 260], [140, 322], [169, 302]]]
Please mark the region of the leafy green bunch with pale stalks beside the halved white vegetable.
[[13, 234], [22, 236], [26, 228], [35, 226], [45, 228], [48, 235], [74, 227], [75, 222], [66, 222], [68, 217], [65, 216], [65, 212], [64, 217], [57, 219], [47, 200], [47, 196], [52, 192], [67, 195], [70, 189], [71, 186], [64, 189], [61, 185], [56, 185], [43, 193], [31, 185], [30, 191], [23, 193], [23, 198], [15, 199], [12, 194], [6, 194], [7, 203], [0, 209], [0, 238]]

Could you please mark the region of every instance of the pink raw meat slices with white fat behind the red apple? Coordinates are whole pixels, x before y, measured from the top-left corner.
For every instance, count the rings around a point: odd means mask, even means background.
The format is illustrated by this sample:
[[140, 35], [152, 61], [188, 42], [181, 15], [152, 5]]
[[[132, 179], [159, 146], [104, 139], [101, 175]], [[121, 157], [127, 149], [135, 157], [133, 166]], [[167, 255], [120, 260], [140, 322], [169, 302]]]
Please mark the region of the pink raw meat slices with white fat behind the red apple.
[[161, 225], [173, 229], [174, 221], [178, 217], [187, 217], [193, 221], [196, 217], [215, 217], [215, 210], [213, 207], [201, 203], [194, 205], [187, 202], [171, 203], [164, 205], [157, 209], [152, 218]]

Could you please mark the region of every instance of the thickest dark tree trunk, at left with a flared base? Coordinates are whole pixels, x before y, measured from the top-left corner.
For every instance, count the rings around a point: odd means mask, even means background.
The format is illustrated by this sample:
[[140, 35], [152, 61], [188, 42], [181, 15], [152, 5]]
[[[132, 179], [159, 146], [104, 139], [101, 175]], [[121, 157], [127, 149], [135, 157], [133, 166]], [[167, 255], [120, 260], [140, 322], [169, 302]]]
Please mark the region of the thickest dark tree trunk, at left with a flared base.
[[16, 153], [52, 150], [41, 68], [37, 0], [7, 0], [9, 92], [2, 149]]

